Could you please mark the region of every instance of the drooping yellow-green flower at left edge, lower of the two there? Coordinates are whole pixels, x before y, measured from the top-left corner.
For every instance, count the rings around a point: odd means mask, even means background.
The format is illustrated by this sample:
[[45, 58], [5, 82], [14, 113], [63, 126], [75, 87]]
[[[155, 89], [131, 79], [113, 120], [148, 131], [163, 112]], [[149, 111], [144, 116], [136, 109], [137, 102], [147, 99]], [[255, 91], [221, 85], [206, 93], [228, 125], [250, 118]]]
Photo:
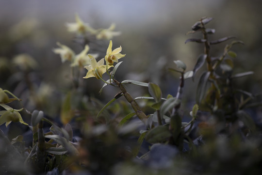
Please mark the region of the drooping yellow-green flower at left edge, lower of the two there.
[[0, 125], [2, 125], [3, 123], [5, 123], [6, 127], [8, 126], [8, 124], [10, 124], [11, 122], [20, 122], [22, 124], [28, 125], [27, 123], [25, 123], [22, 119], [22, 116], [20, 115], [20, 113], [18, 111], [23, 110], [22, 109], [13, 109], [12, 107], [8, 106], [8, 105], [4, 105], [4, 104], [0, 104], [3, 108], [5, 108], [6, 110], [4, 111], [0, 111]]

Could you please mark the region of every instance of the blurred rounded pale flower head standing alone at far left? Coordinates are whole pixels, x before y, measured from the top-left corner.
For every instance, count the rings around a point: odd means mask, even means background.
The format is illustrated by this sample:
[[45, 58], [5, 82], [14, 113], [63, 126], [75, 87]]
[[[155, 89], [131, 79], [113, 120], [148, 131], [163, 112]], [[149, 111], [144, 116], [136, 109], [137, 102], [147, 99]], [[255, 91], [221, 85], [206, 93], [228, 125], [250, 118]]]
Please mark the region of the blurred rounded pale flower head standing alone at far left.
[[37, 68], [37, 62], [33, 59], [32, 56], [26, 53], [16, 55], [13, 58], [13, 63], [21, 70], [30, 70]]

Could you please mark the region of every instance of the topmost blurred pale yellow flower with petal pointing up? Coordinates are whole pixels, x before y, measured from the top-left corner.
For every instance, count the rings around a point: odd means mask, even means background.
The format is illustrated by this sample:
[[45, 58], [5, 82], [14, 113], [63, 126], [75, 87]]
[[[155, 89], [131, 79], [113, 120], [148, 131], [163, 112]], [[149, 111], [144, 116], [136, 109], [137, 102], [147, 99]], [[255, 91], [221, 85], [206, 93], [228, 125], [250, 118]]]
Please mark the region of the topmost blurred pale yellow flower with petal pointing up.
[[76, 22], [66, 23], [68, 32], [72, 32], [80, 35], [85, 34], [85, 32], [90, 32], [93, 35], [97, 33], [95, 29], [90, 27], [87, 23], [84, 23], [82, 19], [78, 16], [78, 14], [75, 15], [75, 18], [76, 18]]

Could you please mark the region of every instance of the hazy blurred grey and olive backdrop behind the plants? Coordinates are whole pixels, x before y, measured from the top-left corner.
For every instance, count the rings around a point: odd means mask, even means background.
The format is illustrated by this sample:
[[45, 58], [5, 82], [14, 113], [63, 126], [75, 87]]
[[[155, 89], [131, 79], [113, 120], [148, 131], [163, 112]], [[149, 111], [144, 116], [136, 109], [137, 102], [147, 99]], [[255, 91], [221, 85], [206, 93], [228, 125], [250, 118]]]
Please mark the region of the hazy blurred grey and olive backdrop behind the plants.
[[[259, 93], [262, 88], [261, 7], [261, 0], [0, 0], [0, 88], [14, 92], [29, 110], [37, 107], [25, 89], [33, 88], [39, 99], [52, 102], [41, 102], [38, 108], [55, 117], [57, 106], [61, 105], [60, 92], [66, 93], [72, 82], [70, 64], [62, 64], [60, 56], [52, 49], [58, 47], [56, 42], [59, 41], [75, 53], [82, 51], [82, 45], [65, 26], [66, 22], [75, 22], [77, 13], [95, 29], [108, 28], [115, 23], [115, 31], [121, 32], [112, 39], [113, 49], [121, 45], [121, 53], [126, 54], [117, 72], [119, 81], [133, 79], [157, 83], [164, 97], [169, 93], [175, 95], [179, 84], [179, 75], [167, 71], [167, 68], [176, 68], [173, 60], [182, 60], [187, 70], [192, 70], [198, 55], [203, 53], [202, 44], [185, 44], [186, 39], [200, 35], [186, 33], [198, 19], [213, 17], [207, 25], [216, 30], [212, 39], [233, 35], [245, 42], [245, 46], [232, 48], [238, 54], [234, 59], [237, 67], [234, 73], [252, 70], [255, 74], [239, 79], [237, 86]], [[108, 40], [98, 43], [99, 59], [106, 54], [108, 44]], [[226, 44], [214, 45], [212, 55], [220, 56]], [[90, 47], [90, 53], [96, 51]], [[35, 60], [31, 65], [33, 71], [28, 72], [27, 77], [36, 82], [36, 87], [28, 86], [27, 78], [18, 73], [23, 68], [12, 61], [16, 55], [25, 53]], [[83, 69], [80, 77], [85, 73]], [[108, 87], [99, 95], [103, 83], [95, 78], [82, 83], [86, 94], [103, 103], [117, 93]], [[190, 106], [194, 105], [190, 101], [195, 98], [196, 84], [191, 79], [186, 80], [184, 99]], [[134, 97], [148, 93], [140, 87], [128, 88]]]

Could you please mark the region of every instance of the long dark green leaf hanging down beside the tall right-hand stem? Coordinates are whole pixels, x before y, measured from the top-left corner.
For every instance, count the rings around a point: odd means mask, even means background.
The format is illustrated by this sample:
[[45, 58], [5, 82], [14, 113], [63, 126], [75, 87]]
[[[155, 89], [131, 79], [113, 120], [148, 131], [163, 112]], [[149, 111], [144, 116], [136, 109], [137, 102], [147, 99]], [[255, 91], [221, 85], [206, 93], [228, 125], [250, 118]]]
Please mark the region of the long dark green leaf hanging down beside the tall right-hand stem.
[[210, 71], [203, 72], [198, 85], [197, 85], [197, 95], [196, 95], [196, 102], [197, 104], [200, 104], [202, 99], [204, 98], [206, 94], [206, 88], [207, 88], [207, 82], [210, 76]]

